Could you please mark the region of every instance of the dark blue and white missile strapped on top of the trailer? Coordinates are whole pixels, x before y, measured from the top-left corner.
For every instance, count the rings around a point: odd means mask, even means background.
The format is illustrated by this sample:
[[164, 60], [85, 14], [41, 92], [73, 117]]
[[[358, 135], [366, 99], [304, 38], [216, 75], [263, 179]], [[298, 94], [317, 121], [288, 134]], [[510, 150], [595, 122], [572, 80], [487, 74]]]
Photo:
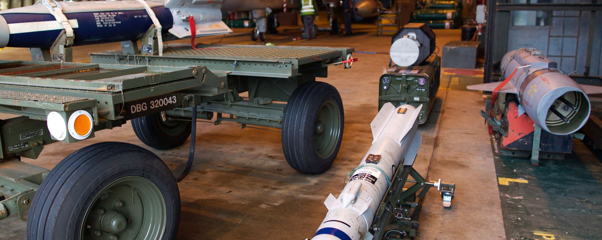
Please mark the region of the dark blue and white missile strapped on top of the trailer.
[[[54, 1], [0, 11], [0, 48], [51, 48], [138, 40], [155, 25], [166, 40], [232, 32], [222, 22], [222, 0]], [[193, 17], [196, 32], [190, 31]], [[143, 43], [144, 45], [144, 43]]]

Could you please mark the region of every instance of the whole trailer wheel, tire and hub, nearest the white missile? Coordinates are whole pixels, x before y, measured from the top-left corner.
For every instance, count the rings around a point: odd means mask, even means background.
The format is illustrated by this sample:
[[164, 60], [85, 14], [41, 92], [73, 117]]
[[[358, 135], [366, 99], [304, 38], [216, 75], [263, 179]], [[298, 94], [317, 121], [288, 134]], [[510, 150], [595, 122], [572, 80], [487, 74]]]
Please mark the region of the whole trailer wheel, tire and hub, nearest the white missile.
[[291, 95], [284, 109], [282, 150], [301, 173], [326, 171], [343, 139], [343, 101], [326, 82], [307, 82]]

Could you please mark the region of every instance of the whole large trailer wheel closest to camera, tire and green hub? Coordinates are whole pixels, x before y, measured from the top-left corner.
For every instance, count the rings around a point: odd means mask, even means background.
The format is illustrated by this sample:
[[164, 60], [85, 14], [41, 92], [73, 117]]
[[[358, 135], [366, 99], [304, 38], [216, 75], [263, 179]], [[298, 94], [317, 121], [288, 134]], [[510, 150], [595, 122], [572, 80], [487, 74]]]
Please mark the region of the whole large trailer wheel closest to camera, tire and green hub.
[[178, 185], [160, 158], [129, 143], [97, 143], [46, 176], [27, 239], [173, 239], [179, 217]]

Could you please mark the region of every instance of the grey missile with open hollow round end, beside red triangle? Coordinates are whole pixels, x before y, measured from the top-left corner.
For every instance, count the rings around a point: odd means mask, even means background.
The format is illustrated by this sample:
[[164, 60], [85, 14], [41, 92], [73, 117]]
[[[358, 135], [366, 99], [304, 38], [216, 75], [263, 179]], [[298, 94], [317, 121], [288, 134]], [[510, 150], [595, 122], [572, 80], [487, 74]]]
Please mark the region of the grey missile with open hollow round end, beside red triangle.
[[[588, 94], [602, 87], [577, 84], [557, 63], [535, 48], [507, 52], [501, 61], [503, 82], [470, 85], [470, 90], [516, 94], [524, 112], [544, 131], [567, 135], [578, 131], [589, 118]], [[495, 95], [494, 91], [494, 95]]]

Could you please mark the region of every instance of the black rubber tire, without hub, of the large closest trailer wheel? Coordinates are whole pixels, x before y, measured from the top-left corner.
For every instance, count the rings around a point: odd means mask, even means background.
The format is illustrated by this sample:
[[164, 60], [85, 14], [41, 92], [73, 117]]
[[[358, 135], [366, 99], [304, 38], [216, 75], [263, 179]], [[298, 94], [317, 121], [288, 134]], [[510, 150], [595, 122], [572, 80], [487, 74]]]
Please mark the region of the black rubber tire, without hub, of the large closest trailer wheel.
[[174, 239], [180, 218], [180, 194], [172, 172], [149, 150], [118, 142], [79, 149], [50, 171], [31, 203], [27, 239], [79, 239], [85, 211], [96, 194], [127, 176], [144, 177], [160, 189], [167, 209], [162, 239]]

